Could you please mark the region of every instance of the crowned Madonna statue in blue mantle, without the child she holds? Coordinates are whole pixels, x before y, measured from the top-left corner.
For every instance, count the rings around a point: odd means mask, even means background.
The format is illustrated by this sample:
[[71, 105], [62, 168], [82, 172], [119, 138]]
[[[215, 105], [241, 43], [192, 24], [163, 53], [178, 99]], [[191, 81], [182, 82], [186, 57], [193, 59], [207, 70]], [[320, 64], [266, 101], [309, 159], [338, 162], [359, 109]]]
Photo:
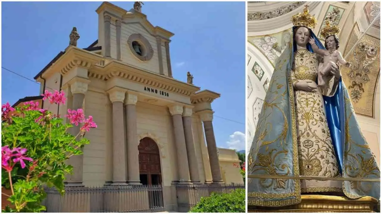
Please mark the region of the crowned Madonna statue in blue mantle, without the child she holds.
[[[292, 22], [293, 43], [275, 64], [248, 156], [248, 175], [257, 177], [248, 178], [248, 205], [298, 204], [304, 193], [378, 200], [379, 182], [361, 180], [379, 179], [380, 171], [360, 131], [339, 66], [330, 68], [327, 88], [318, 88], [317, 72], [323, 66], [309, 44], [312, 37], [325, 49], [311, 30], [317, 21], [306, 7]], [[310, 178], [295, 179], [299, 176]]]

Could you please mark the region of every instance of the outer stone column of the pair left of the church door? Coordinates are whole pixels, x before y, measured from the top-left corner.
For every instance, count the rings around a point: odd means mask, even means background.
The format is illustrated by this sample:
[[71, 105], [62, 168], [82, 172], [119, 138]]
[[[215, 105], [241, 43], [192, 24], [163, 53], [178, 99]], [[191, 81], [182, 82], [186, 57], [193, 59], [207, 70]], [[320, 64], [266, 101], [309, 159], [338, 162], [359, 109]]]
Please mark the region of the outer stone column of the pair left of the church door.
[[126, 185], [126, 147], [123, 122], [125, 90], [112, 88], [108, 91], [112, 102], [112, 184]]

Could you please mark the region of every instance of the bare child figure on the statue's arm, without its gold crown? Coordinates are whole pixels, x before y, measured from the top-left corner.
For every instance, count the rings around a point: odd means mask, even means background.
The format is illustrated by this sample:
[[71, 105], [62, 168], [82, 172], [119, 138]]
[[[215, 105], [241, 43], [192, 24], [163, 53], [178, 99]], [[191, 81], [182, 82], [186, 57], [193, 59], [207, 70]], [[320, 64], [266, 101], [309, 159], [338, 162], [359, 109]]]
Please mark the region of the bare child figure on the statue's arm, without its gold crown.
[[339, 48], [339, 39], [336, 35], [328, 35], [325, 37], [324, 46], [327, 50], [319, 49], [312, 37], [309, 38], [309, 43], [311, 44], [314, 53], [323, 57], [323, 67], [319, 68], [317, 72], [317, 86], [323, 87], [326, 85], [325, 77], [330, 77], [334, 74], [331, 71], [331, 68], [332, 66], [335, 66], [335, 64], [338, 64], [338, 62], [349, 67], [349, 62], [345, 61], [340, 51], [337, 50]]

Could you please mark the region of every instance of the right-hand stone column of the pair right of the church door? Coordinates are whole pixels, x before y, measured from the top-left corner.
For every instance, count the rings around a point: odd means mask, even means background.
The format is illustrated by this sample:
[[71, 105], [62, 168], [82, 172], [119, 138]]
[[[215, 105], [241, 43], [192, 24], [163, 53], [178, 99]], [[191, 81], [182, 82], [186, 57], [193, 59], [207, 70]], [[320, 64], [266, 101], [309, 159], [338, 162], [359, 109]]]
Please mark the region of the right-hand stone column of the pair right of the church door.
[[187, 147], [187, 155], [189, 162], [189, 173], [191, 176], [192, 183], [199, 184], [200, 174], [193, 139], [191, 107], [184, 107], [184, 112], [182, 113], [182, 123], [184, 124], [185, 144]]

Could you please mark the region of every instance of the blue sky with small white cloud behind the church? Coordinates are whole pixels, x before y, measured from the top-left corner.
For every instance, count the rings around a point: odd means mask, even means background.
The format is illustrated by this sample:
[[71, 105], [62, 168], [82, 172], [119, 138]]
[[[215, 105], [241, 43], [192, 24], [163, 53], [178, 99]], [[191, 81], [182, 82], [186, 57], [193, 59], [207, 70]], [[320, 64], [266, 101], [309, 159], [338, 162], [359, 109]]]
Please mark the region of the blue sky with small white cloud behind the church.
[[[95, 10], [101, 3], [2, 2], [2, 67], [33, 79], [67, 47], [72, 27], [81, 36], [78, 47], [86, 48], [98, 39]], [[111, 3], [133, 7], [133, 2]], [[245, 3], [144, 2], [142, 13], [175, 34], [174, 78], [186, 82], [189, 71], [195, 85], [221, 94], [212, 103], [217, 146], [244, 149]], [[2, 69], [2, 103], [37, 95], [38, 84]]]

